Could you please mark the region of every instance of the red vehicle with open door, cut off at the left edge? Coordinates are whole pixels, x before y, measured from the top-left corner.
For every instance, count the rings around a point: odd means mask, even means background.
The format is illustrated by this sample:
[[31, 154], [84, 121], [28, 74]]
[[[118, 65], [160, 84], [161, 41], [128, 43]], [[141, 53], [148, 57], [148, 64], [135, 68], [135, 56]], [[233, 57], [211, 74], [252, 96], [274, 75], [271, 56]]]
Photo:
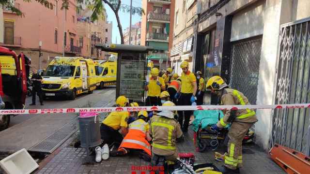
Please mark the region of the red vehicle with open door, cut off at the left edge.
[[[23, 54], [0, 46], [0, 96], [1, 109], [23, 109], [27, 95], [27, 77]], [[0, 113], [0, 131], [9, 127], [10, 117]], [[2, 115], [3, 114], [3, 115]]]

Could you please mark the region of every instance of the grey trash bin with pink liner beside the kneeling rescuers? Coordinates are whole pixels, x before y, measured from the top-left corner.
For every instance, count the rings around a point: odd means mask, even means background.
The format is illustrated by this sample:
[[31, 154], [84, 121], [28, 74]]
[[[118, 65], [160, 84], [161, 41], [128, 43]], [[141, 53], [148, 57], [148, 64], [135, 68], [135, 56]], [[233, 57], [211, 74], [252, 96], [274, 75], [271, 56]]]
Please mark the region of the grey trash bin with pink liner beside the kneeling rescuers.
[[101, 145], [100, 122], [97, 113], [80, 113], [78, 122], [81, 147]]

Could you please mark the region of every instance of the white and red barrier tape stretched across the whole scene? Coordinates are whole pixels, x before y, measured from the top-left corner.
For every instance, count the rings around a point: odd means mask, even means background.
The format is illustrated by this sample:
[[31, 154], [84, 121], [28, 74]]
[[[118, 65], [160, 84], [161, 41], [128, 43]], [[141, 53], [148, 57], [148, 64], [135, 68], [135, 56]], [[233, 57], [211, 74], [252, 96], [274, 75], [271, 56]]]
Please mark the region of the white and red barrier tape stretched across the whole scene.
[[293, 109], [310, 108], [310, 103], [275, 104], [275, 105], [201, 105], [201, 106], [139, 106], [139, 107], [98, 107], [98, 108], [59, 108], [59, 109], [4, 109], [0, 115], [6, 114], [51, 114], [80, 112], [113, 112], [113, 111], [194, 111], [194, 110], [225, 110], [225, 109]]

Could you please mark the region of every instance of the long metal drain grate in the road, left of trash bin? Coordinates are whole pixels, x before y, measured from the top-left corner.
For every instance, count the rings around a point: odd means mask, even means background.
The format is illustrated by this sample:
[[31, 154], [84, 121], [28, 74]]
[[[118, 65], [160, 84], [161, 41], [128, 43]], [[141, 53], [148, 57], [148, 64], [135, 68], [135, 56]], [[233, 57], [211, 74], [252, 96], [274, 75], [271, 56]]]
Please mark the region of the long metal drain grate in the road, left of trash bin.
[[48, 136], [45, 140], [31, 147], [29, 151], [52, 153], [76, 131], [78, 131], [78, 117], [65, 124], [61, 129]]

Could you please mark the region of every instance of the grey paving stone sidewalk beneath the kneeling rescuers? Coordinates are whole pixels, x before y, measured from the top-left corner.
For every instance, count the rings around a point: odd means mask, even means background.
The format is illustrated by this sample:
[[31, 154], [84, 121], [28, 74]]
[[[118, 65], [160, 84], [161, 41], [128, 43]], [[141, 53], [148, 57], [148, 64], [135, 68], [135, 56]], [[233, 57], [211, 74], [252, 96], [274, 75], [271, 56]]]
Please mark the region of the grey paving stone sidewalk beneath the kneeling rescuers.
[[[195, 152], [193, 144], [193, 131], [186, 133], [185, 141], [178, 144], [181, 153], [193, 152], [195, 163], [211, 163], [216, 166], [223, 162], [214, 160], [214, 151], [203, 153]], [[221, 152], [221, 150], [218, 150]], [[223, 151], [222, 151], [223, 152]], [[267, 153], [257, 145], [244, 146], [244, 168], [241, 174], [285, 174], [285, 172], [271, 159]], [[92, 161], [92, 162], [89, 162]], [[94, 162], [94, 156], [86, 159], [85, 148], [64, 147], [45, 167], [36, 174], [131, 174], [132, 166], [148, 166], [149, 162], [140, 160], [137, 156], [110, 157], [109, 160]], [[137, 174], [139, 174], [137, 172]]]

